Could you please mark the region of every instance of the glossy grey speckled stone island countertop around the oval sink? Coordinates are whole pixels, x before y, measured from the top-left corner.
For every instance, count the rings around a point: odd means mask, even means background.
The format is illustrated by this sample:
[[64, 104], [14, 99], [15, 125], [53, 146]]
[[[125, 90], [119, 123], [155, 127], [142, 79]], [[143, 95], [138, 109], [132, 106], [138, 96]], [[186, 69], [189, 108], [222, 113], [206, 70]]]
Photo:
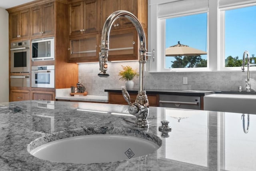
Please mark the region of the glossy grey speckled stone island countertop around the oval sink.
[[[67, 101], [0, 103], [0, 170], [256, 170], [256, 115], [150, 107], [150, 126], [139, 129], [133, 126], [135, 117], [127, 114], [127, 105]], [[169, 137], [162, 137], [158, 131], [161, 120], [170, 122]], [[81, 134], [132, 135], [162, 145], [142, 157], [92, 164], [46, 161], [28, 152], [34, 148], [29, 144], [40, 137], [58, 139]]]

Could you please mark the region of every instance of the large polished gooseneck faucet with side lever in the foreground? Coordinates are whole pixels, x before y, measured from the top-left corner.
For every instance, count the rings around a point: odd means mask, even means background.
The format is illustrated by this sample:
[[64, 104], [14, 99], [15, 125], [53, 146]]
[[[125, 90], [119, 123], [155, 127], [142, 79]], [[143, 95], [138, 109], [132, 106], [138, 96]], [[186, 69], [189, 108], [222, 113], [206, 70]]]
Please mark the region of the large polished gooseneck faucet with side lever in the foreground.
[[[100, 62], [100, 73], [98, 76], [100, 77], [108, 77], [110, 76], [107, 72], [108, 70], [108, 51], [109, 51], [109, 35], [110, 35], [110, 29], [114, 21], [120, 17], [127, 18], [132, 22], [132, 24], [135, 26], [139, 40], [140, 40], [140, 59], [139, 59], [139, 64], [140, 64], [140, 77], [139, 77], [139, 82], [140, 82], [140, 87], [138, 91], [138, 95], [136, 97], [136, 100], [134, 103], [131, 103], [130, 101], [130, 95], [126, 91], [126, 89], [122, 89], [122, 94], [124, 96], [124, 99], [127, 101], [129, 104], [128, 111], [130, 114], [136, 116], [136, 121], [134, 126], [135, 127], [148, 127], [148, 112], [149, 112], [149, 103], [148, 103], [148, 97], [146, 95], [145, 91], [145, 82], [144, 82], [144, 77], [145, 77], [145, 64], [146, 64], [146, 36], [144, 33], [144, 30], [136, 18], [132, 13], [124, 10], [119, 10], [116, 12], [113, 12], [106, 20], [103, 29], [102, 29], [102, 36], [101, 36], [101, 46], [100, 50], [101, 52], [99, 53], [99, 62]], [[124, 40], [125, 41], [125, 40]]]

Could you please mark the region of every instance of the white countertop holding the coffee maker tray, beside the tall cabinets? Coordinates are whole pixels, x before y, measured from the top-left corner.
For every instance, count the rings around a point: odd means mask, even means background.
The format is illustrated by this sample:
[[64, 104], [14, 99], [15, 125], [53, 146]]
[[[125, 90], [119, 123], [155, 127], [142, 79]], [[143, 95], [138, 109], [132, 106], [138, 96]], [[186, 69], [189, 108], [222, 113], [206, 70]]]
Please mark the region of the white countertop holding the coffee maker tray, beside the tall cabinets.
[[55, 99], [108, 103], [108, 96], [101, 96], [101, 95], [71, 96], [70, 88], [56, 89]]

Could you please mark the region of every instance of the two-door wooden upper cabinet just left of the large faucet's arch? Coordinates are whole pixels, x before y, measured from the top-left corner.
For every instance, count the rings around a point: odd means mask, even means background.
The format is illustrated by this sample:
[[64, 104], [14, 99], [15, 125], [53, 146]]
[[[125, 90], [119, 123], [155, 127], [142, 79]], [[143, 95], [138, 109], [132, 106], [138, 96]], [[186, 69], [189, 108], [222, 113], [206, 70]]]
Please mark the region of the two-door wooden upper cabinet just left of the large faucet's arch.
[[85, 0], [72, 3], [69, 4], [68, 8], [70, 35], [98, 31], [98, 0]]

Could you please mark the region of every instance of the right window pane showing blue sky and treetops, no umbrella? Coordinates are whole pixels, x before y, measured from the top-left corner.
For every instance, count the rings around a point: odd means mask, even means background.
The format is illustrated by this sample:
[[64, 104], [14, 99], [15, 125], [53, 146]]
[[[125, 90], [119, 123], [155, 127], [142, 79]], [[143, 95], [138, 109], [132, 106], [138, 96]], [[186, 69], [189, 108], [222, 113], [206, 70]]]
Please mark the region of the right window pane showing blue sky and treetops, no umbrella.
[[240, 67], [244, 51], [255, 65], [256, 6], [225, 11], [225, 67]]

